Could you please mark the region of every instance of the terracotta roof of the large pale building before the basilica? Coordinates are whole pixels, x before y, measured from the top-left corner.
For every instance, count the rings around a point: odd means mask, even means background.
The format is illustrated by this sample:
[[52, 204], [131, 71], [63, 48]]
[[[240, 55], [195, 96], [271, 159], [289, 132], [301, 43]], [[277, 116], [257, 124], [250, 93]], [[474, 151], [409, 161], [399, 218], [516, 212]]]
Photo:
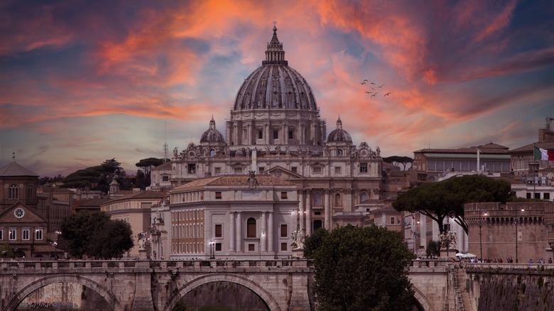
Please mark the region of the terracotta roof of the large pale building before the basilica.
[[[248, 175], [219, 175], [207, 178], [193, 180], [186, 185], [176, 187], [174, 190], [185, 190], [193, 187], [202, 186], [227, 186], [227, 185], [248, 185]], [[288, 182], [272, 175], [256, 175], [258, 185], [295, 185], [293, 182]]]

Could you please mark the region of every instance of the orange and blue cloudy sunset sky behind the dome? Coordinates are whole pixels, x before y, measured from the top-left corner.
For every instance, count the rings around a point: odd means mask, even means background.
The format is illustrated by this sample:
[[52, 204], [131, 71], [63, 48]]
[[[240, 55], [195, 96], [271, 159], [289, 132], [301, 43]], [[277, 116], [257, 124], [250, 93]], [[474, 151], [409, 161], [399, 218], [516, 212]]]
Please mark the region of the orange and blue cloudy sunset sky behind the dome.
[[553, 16], [552, 0], [0, 1], [0, 167], [132, 174], [212, 115], [224, 133], [273, 21], [327, 133], [340, 114], [382, 156], [518, 148], [554, 117]]

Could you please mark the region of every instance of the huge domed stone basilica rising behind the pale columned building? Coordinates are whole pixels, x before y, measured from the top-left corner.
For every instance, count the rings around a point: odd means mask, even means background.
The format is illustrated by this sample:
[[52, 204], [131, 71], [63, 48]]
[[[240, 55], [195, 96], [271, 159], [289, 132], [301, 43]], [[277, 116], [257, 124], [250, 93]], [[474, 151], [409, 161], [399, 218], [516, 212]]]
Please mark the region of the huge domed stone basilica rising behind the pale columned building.
[[[265, 60], [239, 88], [224, 129], [225, 135], [212, 117], [199, 143], [175, 148], [170, 163], [152, 169], [151, 188], [175, 190], [217, 175], [273, 175], [296, 186], [298, 217], [290, 231], [306, 235], [361, 225], [386, 199], [379, 147], [354, 144], [340, 117], [327, 135], [313, 91], [288, 65], [275, 27]], [[181, 205], [172, 199], [170, 209]], [[236, 225], [247, 228], [246, 220]]]

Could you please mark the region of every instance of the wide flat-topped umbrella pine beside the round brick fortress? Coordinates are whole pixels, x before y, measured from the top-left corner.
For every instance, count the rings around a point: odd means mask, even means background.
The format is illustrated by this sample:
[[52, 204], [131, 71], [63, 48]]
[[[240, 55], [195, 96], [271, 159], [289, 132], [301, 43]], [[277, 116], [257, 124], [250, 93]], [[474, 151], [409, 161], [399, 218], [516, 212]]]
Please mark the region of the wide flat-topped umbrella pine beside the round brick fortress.
[[446, 217], [467, 233], [464, 220], [464, 204], [474, 202], [502, 202], [510, 200], [511, 186], [504, 180], [482, 175], [464, 175], [441, 182], [430, 182], [411, 188], [398, 195], [393, 202], [397, 211], [420, 212], [438, 223], [440, 233]]

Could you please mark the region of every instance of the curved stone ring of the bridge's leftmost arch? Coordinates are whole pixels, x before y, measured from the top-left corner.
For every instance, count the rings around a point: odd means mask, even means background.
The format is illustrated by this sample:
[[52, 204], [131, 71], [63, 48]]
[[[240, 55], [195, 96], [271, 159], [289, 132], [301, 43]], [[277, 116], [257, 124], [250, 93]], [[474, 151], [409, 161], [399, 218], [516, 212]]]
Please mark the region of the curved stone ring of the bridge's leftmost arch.
[[94, 282], [94, 280], [89, 280], [88, 278], [83, 278], [82, 276], [77, 275], [66, 275], [66, 274], [57, 274], [57, 275], [48, 275], [44, 278], [33, 281], [26, 285], [23, 289], [19, 291], [16, 295], [11, 298], [6, 310], [16, 310], [16, 307], [31, 293], [39, 288], [43, 288], [46, 285], [54, 283], [77, 283], [80, 285], [85, 285], [87, 288], [94, 290], [96, 293], [101, 295], [109, 305], [114, 308], [114, 311], [123, 311], [123, 307], [117, 300], [117, 298], [104, 286]]

